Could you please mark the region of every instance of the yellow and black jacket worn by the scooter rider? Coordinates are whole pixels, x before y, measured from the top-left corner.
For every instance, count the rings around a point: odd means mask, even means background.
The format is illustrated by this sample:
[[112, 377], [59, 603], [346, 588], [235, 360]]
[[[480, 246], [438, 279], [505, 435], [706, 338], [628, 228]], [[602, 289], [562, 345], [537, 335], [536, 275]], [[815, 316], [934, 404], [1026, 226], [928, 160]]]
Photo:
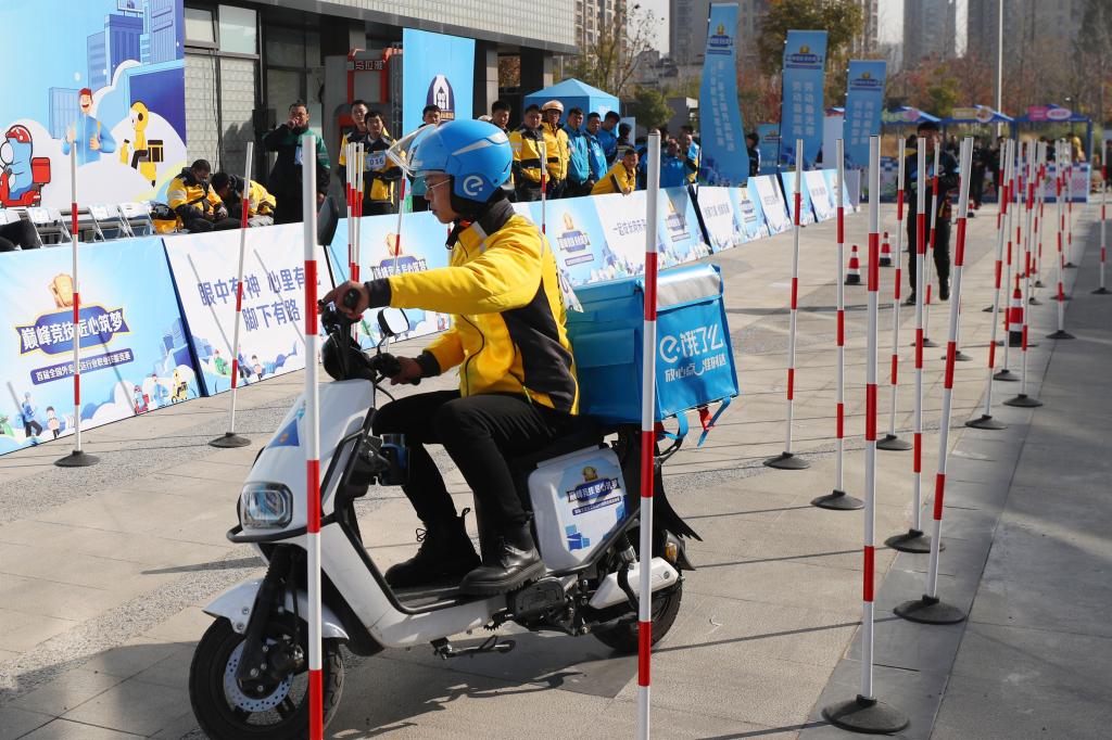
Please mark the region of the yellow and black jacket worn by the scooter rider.
[[[523, 393], [577, 413], [559, 270], [545, 237], [505, 200], [453, 236], [448, 267], [383, 279], [390, 306], [454, 314], [453, 327], [425, 350], [434, 373], [459, 366], [464, 396]], [[385, 289], [374, 283], [373, 297]], [[428, 374], [430, 363], [421, 359]]]

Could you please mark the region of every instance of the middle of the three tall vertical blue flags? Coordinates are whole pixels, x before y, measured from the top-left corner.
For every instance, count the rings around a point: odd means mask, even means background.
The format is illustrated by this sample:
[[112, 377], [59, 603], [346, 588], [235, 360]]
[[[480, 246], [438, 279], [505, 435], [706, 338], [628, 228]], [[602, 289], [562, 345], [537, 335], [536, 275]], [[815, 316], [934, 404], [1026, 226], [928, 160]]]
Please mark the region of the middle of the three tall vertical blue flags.
[[804, 163], [823, 146], [823, 77], [826, 31], [788, 31], [784, 44], [784, 102], [780, 119], [781, 160], [795, 166], [795, 140], [803, 139]]

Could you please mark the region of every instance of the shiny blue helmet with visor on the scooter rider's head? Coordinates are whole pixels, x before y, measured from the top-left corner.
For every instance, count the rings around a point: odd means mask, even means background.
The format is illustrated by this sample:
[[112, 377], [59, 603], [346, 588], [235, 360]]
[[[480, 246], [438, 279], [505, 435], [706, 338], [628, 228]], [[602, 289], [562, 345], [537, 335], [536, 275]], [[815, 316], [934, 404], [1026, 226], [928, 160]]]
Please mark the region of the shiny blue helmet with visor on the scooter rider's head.
[[478, 203], [488, 201], [509, 179], [514, 161], [505, 131], [486, 121], [448, 121], [419, 134], [413, 147], [413, 172], [449, 174], [453, 193]]

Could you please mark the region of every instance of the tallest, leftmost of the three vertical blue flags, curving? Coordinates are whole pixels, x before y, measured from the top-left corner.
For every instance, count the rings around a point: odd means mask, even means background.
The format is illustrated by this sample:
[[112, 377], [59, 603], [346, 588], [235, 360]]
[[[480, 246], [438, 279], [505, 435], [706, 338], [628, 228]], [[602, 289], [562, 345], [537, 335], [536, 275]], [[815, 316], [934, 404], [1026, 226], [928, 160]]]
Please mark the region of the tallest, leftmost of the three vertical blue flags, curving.
[[701, 177], [713, 186], [745, 184], [749, 156], [745, 150], [742, 111], [737, 107], [734, 37], [737, 6], [715, 2], [706, 34], [703, 83], [699, 87]]

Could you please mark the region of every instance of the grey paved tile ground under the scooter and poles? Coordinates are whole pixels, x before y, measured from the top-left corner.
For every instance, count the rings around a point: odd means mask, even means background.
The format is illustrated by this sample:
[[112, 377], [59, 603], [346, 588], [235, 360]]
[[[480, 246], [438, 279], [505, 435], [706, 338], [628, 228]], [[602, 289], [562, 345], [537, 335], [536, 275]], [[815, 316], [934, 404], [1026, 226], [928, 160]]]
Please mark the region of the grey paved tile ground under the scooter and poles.
[[[1029, 393], [1046, 407], [994, 408], [1010, 424], [1004, 432], [962, 426], [980, 413], [985, 388], [991, 328], [980, 309], [991, 302], [995, 213], [986, 208], [970, 223], [961, 344], [973, 361], [955, 372], [940, 578], [943, 597], [971, 609], [970, 622], [932, 628], [892, 617], [893, 606], [922, 592], [925, 558], [877, 552], [877, 696], [911, 717], [909, 738], [1095, 738], [1112, 719], [1103, 433], [1112, 417], [1103, 386], [1112, 301], [1089, 296], [1095, 209], [1079, 211], [1075, 242], [1088, 251], [1080, 273], [1069, 274], [1071, 284], [1078, 280], [1069, 318], [1079, 339], [1059, 347], [1042, 339], [1054, 304], [1034, 311], [1040, 347], [1029, 354]], [[892, 210], [884, 217], [894, 231]], [[865, 229], [863, 213], [851, 216], [848, 242], [864, 246]], [[818, 710], [858, 690], [863, 519], [810, 506], [834, 482], [833, 238], [834, 224], [825, 223], [806, 228], [801, 240], [794, 440], [812, 463], [805, 471], [761, 464], [784, 447], [792, 237], [712, 260], [726, 276], [742, 398], [702, 449], [688, 446], [667, 469], [669, 497], [703, 541], [691, 547], [698, 570], [654, 658], [656, 737], [845, 734]], [[881, 276], [885, 380], [894, 270]], [[845, 480], [861, 494], [865, 290], [846, 291]], [[946, 311], [936, 306], [931, 317], [940, 341]], [[895, 423], [910, 437], [913, 311], [904, 308], [901, 320]], [[941, 356], [925, 356], [925, 504], [943, 421]], [[1010, 363], [1019, 370], [1017, 353]], [[297, 373], [244, 390], [240, 430], [256, 444], [240, 450], [206, 444], [224, 430], [221, 398], [90, 432], [88, 447], [102, 457], [91, 469], [54, 468], [66, 451], [57, 443], [0, 458], [0, 740], [201, 737], [185, 687], [193, 643], [210, 621], [201, 607], [259, 572], [251, 551], [224, 533], [258, 444], [301, 382]], [[995, 392], [999, 401], [1015, 384], [996, 383]], [[883, 384], [880, 409], [883, 431]], [[911, 460], [909, 452], [878, 457], [880, 540], [909, 527]], [[467, 501], [458, 473], [448, 484]], [[374, 491], [360, 517], [376, 557], [408, 557], [416, 520], [399, 491]], [[458, 662], [427, 649], [349, 656], [329, 737], [555, 737], [573, 727], [587, 737], [633, 736], [633, 658], [615, 657], [593, 638], [515, 638], [508, 657]]]

